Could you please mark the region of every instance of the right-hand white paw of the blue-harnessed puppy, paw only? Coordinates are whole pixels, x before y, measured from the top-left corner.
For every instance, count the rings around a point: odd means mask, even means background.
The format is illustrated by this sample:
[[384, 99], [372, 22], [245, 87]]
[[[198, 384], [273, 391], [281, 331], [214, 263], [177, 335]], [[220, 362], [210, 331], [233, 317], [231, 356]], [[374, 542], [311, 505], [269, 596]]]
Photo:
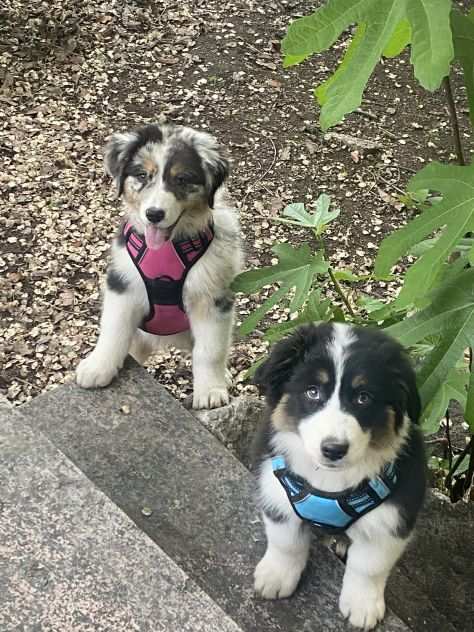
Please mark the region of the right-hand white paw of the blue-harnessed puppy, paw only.
[[346, 582], [339, 597], [339, 610], [356, 628], [372, 630], [385, 615], [383, 588], [379, 589], [370, 580], [365, 585], [351, 586]]

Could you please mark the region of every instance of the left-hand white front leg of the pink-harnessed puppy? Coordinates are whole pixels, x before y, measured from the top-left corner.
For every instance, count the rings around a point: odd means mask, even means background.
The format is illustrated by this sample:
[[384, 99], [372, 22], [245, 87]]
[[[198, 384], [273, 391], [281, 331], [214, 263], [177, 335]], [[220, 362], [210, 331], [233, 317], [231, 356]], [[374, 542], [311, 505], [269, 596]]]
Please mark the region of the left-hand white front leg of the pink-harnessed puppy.
[[146, 314], [146, 291], [137, 284], [119, 283], [107, 275], [100, 333], [92, 353], [79, 363], [76, 381], [82, 388], [103, 387], [117, 375], [127, 357], [133, 336]]

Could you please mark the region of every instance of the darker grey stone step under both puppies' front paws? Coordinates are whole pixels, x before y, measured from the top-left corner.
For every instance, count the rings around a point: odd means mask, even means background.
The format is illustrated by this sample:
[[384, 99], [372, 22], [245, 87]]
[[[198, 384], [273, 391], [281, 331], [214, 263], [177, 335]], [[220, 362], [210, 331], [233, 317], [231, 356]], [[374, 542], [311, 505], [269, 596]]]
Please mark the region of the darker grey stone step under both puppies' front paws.
[[[105, 390], [61, 387], [21, 410], [245, 632], [351, 629], [337, 607], [343, 565], [320, 545], [292, 599], [254, 597], [265, 542], [253, 477], [143, 369], [129, 364]], [[409, 628], [388, 613], [379, 629]]]

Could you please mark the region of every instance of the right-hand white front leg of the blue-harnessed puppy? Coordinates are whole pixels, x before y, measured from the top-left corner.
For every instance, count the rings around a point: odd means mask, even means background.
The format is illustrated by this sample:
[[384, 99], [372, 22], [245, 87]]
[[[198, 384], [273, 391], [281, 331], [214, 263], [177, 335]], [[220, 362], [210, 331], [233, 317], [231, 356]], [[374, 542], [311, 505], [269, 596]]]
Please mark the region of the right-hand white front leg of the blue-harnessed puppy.
[[385, 584], [408, 540], [390, 535], [355, 539], [347, 555], [339, 609], [349, 622], [371, 630], [385, 615]]

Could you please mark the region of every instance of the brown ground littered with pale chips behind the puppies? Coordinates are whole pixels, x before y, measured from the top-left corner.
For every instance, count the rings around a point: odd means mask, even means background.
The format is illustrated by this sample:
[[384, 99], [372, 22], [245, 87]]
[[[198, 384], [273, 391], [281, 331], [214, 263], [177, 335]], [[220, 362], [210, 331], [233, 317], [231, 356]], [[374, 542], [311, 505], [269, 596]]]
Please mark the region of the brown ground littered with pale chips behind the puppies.
[[[361, 110], [334, 128], [376, 146], [325, 138], [312, 86], [345, 42], [283, 70], [279, 42], [307, 0], [4, 0], [0, 8], [0, 392], [22, 403], [71, 379], [92, 348], [100, 279], [120, 205], [101, 148], [114, 130], [171, 121], [216, 134], [229, 149], [229, 189], [250, 266], [275, 240], [304, 234], [272, 218], [290, 202], [329, 193], [342, 209], [328, 235], [335, 266], [370, 271], [383, 236], [406, 221], [398, 199], [411, 173], [453, 159], [442, 94], [427, 95], [408, 57], [385, 61]], [[455, 84], [457, 82], [455, 81]], [[462, 89], [462, 128], [467, 120]], [[396, 284], [369, 283], [385, 297]], [[245, 317], [261, 296], [239, 297]], [[274, 310], [270, 321], [286, 319]], [[235, 392], [264, 345], [236, 339]], [[189, 361], [150, 365], [177, 397]]]

